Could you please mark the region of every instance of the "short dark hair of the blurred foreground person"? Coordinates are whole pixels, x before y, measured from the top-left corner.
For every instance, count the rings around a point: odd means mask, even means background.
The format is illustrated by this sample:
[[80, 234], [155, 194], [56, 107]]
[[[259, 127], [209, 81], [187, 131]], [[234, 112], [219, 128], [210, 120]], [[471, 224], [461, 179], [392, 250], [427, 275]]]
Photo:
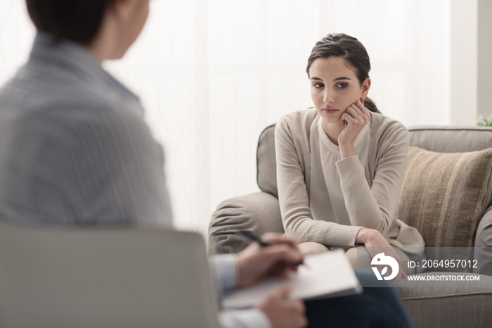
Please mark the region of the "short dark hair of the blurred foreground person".
[[70, 39], [89, 45], [103, 23], [106, 8], [115, 0], [26, 0], [37, 29], [55, 42]]

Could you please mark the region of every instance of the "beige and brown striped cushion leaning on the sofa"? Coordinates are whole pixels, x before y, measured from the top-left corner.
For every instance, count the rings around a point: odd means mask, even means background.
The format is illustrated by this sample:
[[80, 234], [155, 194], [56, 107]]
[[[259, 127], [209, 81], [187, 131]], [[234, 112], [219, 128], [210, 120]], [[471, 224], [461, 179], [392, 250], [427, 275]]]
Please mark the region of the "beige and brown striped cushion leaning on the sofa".
[[396, 217], [427, 247], [471, 247], [491, 195], [492, 149], [436, 153], [410, 146]]

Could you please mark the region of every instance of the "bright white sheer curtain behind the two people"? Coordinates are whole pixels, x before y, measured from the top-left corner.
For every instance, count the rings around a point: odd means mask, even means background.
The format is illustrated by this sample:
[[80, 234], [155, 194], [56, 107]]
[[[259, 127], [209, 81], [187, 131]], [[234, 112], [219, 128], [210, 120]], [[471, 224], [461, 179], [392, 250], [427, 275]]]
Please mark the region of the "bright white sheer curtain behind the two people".
[[[329, 32], [357, 37], [370, 96], [405, 125], [450, 121], [450, 0], [153, 0], [141, 38], [105, 66], [141, 96], [176, 227], [204, 234], [225, 198], [258, 191], [256, 147], [280, 115], [312, 106], [306, 59]], [[25, 62], [24, 1], [0, 4], [0, 83]], [[474, 114], [473, 114], [474, 115]], [[472, 119], [474, 121], [474, 118]]]

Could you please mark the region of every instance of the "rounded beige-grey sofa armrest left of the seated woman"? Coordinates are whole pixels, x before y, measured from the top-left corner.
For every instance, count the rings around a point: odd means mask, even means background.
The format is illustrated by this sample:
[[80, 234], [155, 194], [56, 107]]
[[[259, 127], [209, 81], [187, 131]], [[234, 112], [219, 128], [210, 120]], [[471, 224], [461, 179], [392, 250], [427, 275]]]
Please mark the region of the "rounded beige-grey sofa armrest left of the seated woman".
[[278, 199], [265, 192], [228, 198], [216, 208], [209, 225], [209, 255], [238, 253], [250, 241], [236, 234], [248, 231], [283, 233]]

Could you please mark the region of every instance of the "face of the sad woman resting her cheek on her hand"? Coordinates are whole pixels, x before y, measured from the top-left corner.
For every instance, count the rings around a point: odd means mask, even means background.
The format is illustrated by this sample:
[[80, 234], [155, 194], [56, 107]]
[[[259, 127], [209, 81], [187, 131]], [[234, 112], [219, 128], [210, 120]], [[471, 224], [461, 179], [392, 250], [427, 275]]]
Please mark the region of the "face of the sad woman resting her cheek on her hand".
[[341, 57], [318, 58], [309, 68], [311, 98], [316, 111], [326, 122], [340, 123], [347, 108], [365, 99], [370, 87], [367, 78], [359, 84], [356, 72]]

